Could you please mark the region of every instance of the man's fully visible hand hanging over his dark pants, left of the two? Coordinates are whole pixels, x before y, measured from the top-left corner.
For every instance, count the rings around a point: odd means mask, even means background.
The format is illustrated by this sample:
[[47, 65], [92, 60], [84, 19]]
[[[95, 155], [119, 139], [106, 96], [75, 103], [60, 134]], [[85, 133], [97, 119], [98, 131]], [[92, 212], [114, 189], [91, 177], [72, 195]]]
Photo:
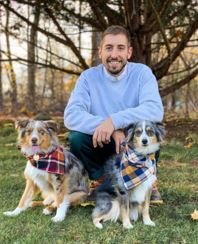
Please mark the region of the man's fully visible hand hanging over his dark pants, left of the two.
[[103, 147], [103, 143], [108, 144], [114, 130], [112, 119], [109, 117], [96, 128], [92, 138], [93, 146]]

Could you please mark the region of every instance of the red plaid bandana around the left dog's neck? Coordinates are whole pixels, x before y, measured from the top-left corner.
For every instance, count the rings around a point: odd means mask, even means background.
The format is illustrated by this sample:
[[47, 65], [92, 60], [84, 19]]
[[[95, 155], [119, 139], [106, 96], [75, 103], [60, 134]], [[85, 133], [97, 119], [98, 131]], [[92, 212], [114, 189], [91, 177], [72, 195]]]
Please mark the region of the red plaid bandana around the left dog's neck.
[[65, 156], [64, 149], [57, 147], [50, 153], [40, 153], [28, 156], [32, 166], [37, 169], [46, 171], [52, 174], [64, 174], [65, 173]]

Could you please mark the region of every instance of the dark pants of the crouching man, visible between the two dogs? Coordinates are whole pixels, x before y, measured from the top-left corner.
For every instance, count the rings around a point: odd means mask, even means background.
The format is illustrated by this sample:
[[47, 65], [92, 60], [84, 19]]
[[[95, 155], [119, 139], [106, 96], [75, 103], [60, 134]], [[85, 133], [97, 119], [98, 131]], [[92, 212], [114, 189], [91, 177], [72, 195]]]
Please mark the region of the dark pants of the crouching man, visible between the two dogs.
[[116, 153], [113, 140], [109, 144], [104, 144], [103, 148], [94, 148], [92, 135], [77, 131], [70, 132], [69, 143], [71, 152], [81, 160], [91, 180], [97, 180], [104, 174], [105, 161]]

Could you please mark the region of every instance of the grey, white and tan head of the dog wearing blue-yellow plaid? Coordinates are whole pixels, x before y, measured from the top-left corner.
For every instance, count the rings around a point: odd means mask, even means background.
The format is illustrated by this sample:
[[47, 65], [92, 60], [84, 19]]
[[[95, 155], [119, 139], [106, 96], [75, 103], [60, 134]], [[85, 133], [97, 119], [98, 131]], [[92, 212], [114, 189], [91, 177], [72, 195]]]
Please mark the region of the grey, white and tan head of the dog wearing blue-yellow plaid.
[[147, 155], [159, 150], [165, 129], [162, 123], [142, 121], [128, 126], [125, 133], [126, 143], [137, 152]]

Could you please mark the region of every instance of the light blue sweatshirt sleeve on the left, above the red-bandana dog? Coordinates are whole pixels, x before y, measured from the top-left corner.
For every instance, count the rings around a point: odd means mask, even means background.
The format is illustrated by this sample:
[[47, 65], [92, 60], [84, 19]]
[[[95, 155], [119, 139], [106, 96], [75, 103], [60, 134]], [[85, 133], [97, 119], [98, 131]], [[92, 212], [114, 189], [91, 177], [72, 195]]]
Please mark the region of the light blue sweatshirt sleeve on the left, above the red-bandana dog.
[[64, 111], [64, 124], [69, 130], [92, 135], [95, 128], [104, 120], [90, 113], [91, 101], [88, 84], [84, 73], [79, 77], [76, 86]]

